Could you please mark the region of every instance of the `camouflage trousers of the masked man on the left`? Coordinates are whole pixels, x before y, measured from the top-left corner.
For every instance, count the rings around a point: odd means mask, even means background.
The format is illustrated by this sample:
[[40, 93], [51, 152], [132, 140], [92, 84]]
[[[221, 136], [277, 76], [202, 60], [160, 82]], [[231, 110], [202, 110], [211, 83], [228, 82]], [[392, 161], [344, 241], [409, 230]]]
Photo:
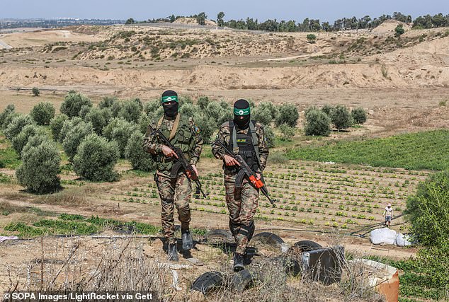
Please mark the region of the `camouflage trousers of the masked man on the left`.
[[190, 180], [184, 174], [178, 175], [176, 181], [171, 181], [166, 175], [157, 173], [155, 176], [159, 197], [161, 197], [161, 221], [164, 237], [168, 243], [176, 243], [174, 238], [174, 206], [178, 210], [178, 220], [181, 221], [181, 230], [187, 230], [191, 222], [191, 208], [189, 202], [192, 197]]

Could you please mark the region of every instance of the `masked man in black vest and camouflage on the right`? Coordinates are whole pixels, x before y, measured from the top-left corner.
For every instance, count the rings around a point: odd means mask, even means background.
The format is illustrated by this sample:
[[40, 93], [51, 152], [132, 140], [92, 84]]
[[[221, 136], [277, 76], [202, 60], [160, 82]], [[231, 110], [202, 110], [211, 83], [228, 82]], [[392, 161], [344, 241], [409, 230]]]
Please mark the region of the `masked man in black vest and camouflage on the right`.
[[[250, 116], [248, 101], [237, 100], [234, 103], [234, 120], [221, 125], [217, 139], [228, 146], [229, 150], [240, 154], [249, 167], [258, 173], [260, 179], [260, 173], [265, 168], [268, 158], [268, 146], [262, 124], [251, 121]], [[213, 145], [212, 153], [223, 161], [229, 228], [237, 243], [237, 250], [234, 254], [234, 271], [239, 271], [244, 269], [246, 246], [254, 234], [254, 214], [256, 214], [258, 206], [258, 189], [244, 179], [241, 192], [234, 194], [239, 163], [225, 154], [220, 146]]]

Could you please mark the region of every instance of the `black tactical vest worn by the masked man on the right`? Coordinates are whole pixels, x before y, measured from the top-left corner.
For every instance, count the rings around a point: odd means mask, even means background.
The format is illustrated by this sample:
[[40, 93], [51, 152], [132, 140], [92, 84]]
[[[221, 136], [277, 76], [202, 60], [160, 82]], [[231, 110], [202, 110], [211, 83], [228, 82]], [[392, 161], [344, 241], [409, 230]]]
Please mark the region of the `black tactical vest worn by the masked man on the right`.
[[[237, 133], [237, 129], [234, 125], [234, 121], [229, 121], [229, 130], [231, 137], [229, 138], [228, 149], [234, 153], [239, 154], [249, 167], [256, 171], [260, 169], [260, 159], [258, 154], [258, 139], [256, 134], [256, 128], [254, 127], [256, 122], [249, 122], [249, 131], [247, 134]], [[225, 166], [232, 173], [237, 171], [235, 167]], [[234, 171], [235, 170], [235, 171]]]

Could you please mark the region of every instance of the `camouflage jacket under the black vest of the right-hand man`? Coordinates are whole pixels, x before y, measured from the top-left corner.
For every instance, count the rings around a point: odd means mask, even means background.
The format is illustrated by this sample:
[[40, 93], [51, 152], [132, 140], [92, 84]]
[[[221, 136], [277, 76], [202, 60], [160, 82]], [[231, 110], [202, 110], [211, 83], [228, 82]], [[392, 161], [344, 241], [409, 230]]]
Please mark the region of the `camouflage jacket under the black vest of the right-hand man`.
[[[258, 153], [259, 157], [261, 158], [260, 163], [260, 170], [256, 172], [262, 172], [266, 167], [266, 161], [268, 159], [268, 144], [266, 141], [265, 134], [263, 132], [263, 125], [260, 122], [256, 122], [254, 124], [254, 128], [256, 129], [256, 135], [258, 139]], [[237, 134], [248, 134], [249, 127], [247, 129], [241, 130], [237, 128]], [[217, 134], [217, 139], [220, 139], [225, 145], [229, 144], [229, 139], [231, 139], [231, 127], [229, 127], [229, 121], [224, 122], [220, 126], [220, 130]], [[224, 151], [220, 146], [212, 146], [212, 154], [215, 156], [215, 158], [223, 160], [224, 158]], [[225, 169], [226, 172], [226, 169]]]

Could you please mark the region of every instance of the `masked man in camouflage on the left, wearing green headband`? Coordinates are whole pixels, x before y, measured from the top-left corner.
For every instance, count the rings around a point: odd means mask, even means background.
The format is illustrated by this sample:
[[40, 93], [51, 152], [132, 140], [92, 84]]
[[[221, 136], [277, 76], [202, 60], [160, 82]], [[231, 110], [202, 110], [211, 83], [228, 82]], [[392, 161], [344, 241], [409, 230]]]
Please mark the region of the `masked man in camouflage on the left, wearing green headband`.
[[[203, 150], [203, 139], [200, 130], [191, 117], [178, 113], [178, 95], [174, 91], [165, 91], [162, 94], [161, 104], [164, 107], [164, 116], [157, 123], [152, 122], [154, 129], [161, 129], [164, 136], [172, 145], [179, 147], [186, 158], [193, 165], [193, 170], [198, 175], [195, 164]], [[174, 206], [178, 210], [178, 219], [181, 221], [181, 234], [183, 250], [193, 247], [193, 240], [189, 231], [191, 221], [191, 209], [189, 202], [192, 196], [191, 181], [184, 171], [178, 173], [176, 178], [170, 178], [171, 168], [176, 163], [176, 153], [168, 146], [161, 144], [157, 135], [152, 135], [150, 129], [144, 139], [145, 151], [152, 153], [157, 158], [157, 172], [154, 175], [159, 197], [161, 197], [161, 218], [164, 237], [166, 238], [167, 254], [169, 260], [178, 260], [176, 239], [174, 238]]]

